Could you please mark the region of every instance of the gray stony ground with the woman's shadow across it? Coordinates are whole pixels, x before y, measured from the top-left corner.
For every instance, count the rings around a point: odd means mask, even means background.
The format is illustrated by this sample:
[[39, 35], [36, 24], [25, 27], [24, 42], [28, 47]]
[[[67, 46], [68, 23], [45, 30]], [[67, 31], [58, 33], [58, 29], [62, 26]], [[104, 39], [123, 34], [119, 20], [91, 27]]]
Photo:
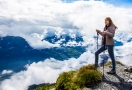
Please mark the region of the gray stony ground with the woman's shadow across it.
[[[122, 66], [117, 64], [116, 73], [115, 75], [107, 74], [108, 71], [111, 70], [110, 66], [104, 67], [104, 77], [102, 79], [101, 84], [98, 86], [98, 90], [132, 90], [132, 74], [130, 72], [125, 72], [124, 68], [126, 66]], [[99, 67], [98, 71], [103, 73], [103, 68]], [[91, 89], [97, 90], [97, 89]]]

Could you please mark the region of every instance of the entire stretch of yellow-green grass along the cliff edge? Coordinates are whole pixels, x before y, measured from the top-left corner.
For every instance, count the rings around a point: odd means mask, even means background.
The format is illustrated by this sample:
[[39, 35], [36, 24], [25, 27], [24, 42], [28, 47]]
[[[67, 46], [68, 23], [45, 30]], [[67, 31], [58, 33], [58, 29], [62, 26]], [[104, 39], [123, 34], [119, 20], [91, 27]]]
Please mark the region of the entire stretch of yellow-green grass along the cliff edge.
[[85, 87], [97, 85], [102, 79], [102, 74], [89, 64], [76, 71], [63, 72], [59, 75], [56, 84], [40, 86], [35, 90], [82, 90]]

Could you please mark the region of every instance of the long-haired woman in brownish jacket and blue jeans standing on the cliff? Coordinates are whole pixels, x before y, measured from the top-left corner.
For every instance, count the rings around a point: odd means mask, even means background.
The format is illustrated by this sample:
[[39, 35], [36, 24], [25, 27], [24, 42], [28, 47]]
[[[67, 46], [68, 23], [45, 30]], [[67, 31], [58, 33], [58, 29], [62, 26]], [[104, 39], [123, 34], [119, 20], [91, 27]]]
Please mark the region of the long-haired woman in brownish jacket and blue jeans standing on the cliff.
[[102, 47], [95, 52], [95, 68], [98, 67], [98, 55], [104, 50], [108, 49], [109, 56], [112, 60], [112, 70], [107, 72], [108, 74], [116, 74], [116, 62], [114, 58], [114, 40], [115, 30], [117, 26], [114, 25], [110, 17], [105, 19], [105, 27], [103, 32], [96, 29], [96, 32], [102, 36]]

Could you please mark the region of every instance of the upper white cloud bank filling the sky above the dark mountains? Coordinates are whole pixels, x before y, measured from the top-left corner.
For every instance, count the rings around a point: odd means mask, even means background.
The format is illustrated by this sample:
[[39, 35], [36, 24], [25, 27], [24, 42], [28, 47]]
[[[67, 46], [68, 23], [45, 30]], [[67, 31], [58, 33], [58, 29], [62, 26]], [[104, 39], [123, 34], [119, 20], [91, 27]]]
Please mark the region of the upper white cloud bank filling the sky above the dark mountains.
[[[22, 36], [34, 48], [50, 48], [56, 45], [40, 43], [45, 31], [63, 32], [76, 30], [87, 38], [96, 35], [95, 29], [103, 29], [104, 18], [112, 17], [119, 31], [131, 31], [132, 9], [116, 7], [102, 1], [76, 1], [62, 3], [60, 0], [0, 0], [0, 35]], [[67, 33], [67, 32], [66, 32]], [[36, 41], [40, 44], [37, 44]], [[58, 46], [58, 45], [57, 45]]]

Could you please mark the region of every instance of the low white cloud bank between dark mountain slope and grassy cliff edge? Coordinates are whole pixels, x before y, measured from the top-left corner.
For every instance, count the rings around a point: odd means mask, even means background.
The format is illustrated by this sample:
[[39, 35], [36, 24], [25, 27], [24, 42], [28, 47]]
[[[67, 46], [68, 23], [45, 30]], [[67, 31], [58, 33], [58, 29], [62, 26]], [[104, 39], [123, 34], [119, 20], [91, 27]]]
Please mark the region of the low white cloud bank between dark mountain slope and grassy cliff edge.
[[55, 83], [61, 72], [75, 70], [87, 63], [93, 63], [92, 58], [93, 55], [88, 51], [78, 59], [71, 58], [58, 61], [51, 58], [32, 63], [29, 66], [27, 65], [27, 70], [16, 73], [10, 79], [4, 80], [1, 83], [1, 90], [27, 90], [27, 87], [32, 84]]

